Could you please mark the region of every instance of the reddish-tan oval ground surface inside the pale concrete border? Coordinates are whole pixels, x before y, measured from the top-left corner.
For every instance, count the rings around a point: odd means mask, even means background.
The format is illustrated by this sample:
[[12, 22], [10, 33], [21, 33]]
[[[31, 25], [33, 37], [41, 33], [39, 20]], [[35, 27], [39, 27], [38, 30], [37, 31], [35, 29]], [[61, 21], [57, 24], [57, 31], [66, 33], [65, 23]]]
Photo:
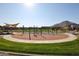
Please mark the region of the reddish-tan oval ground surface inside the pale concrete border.
[[14, 34], [12, 35], [13, 38], [18, 38], [20, 40], [37, 40], [37, 41], [45, 41], [45, 40], [63, 40], [64, 38], [67, 38], [68, 35], [66, 34]]

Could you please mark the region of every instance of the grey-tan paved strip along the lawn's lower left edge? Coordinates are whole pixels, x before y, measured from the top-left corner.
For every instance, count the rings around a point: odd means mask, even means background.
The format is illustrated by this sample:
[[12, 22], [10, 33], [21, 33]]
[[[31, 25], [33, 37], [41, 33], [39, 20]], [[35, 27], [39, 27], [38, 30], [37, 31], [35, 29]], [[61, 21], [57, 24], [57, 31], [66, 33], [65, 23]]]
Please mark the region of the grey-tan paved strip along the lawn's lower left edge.
[[[40, 54], [30, 54], [30, 53], [17, 53], [9, 51], [0, 51], [0, 56], [42, 56]], [[43, 55], [45, 56], [45, 55]]]

